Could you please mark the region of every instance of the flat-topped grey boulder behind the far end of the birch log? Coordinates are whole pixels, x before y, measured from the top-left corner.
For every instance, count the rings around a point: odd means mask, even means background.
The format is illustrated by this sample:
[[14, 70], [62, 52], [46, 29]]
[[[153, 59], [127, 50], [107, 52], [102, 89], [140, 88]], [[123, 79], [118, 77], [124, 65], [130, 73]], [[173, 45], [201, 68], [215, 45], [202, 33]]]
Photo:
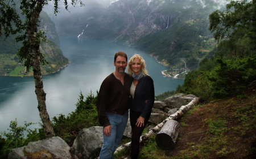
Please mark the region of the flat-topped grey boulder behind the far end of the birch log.
[[192, 94], [186, 96], [185, 94], [179, 93], [166, 98], [163, 102], [167, 104], [168, 108], [174, 109], [189, 104], [189, 102], [191, 102], [195, 97], [196, 96]]

